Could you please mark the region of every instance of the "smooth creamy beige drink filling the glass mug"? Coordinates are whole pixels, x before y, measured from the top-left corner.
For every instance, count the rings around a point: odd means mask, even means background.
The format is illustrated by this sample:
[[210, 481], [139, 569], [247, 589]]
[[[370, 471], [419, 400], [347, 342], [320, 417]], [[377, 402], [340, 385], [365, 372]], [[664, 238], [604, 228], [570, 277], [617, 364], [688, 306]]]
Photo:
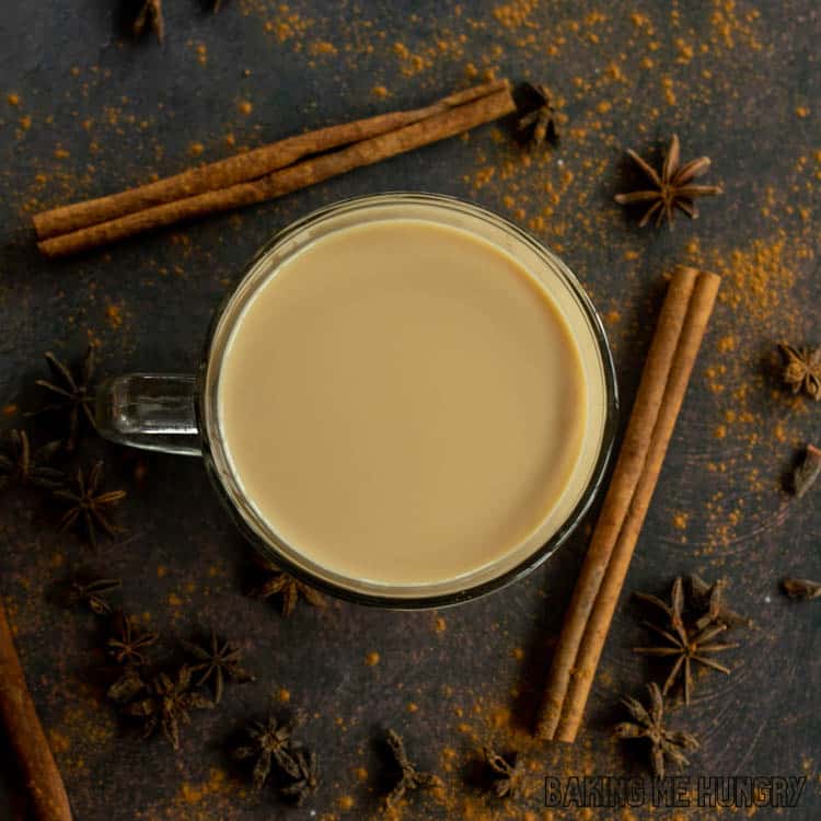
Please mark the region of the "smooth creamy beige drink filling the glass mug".
[[385, 220], [281, 266], [229, 342], [232, 469], [296, 551], [378, 585], [512, 551], [579, 454], [587, 385], [551, 298], [467, 232]]

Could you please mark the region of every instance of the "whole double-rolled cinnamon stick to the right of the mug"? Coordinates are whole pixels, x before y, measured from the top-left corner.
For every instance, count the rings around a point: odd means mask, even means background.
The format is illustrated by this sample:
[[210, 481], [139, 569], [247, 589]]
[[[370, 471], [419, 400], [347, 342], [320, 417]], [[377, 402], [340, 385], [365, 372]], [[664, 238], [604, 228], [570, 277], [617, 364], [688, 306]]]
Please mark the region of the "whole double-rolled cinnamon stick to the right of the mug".
[[573, 741], [718, 288], [677, 268], [650, 345], [611, 486], [565, 616], [537, 735]]

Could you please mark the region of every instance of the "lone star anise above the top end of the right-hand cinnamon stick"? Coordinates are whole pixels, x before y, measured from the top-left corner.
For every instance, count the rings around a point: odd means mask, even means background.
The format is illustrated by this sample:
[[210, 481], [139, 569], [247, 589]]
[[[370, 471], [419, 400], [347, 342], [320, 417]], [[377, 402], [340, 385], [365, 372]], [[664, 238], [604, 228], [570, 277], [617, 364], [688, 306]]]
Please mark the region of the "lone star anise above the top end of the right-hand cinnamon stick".
[[695, 203], [698, 197], [722, 193], [720, 185], [691, 184], [693, 180], [706, 173], [710, 161], [708, 157], [699, 157], [697, 160], [691, 160], [682, 165], [681, 146], [675, 135], [670, 140], [670, 148], [667, 150], [660, 175], [635, 151], [628, 149], [627, 153], [655, 186], [651, 189], [616, 194], [615, 200], [620, 205], [651, 204], [638, 223], [639, 228], [646, 226], [654, 215], [656, 216], [657, 227], [667, 219], [672, 228], [677, 208], [691, 219], [695, 219], [698, 216], [698, 207]]

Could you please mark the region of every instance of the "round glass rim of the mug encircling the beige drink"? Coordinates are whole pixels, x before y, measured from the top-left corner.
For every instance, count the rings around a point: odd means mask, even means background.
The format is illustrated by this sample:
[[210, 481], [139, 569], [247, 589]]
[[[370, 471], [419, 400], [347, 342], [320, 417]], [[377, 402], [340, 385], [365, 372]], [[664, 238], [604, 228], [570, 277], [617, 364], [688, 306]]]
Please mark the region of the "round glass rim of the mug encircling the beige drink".
[[[251, 523], [246, 520], [243, 511], [239, 508], [238, 501], [234, 499], [234, 495], [231, 493], [229, 487], [226, 486], [226, 477], [223, 471], [215, 458], [215, 448], [211, 440], [210, 427], [211, 416], [215, 417], [213, 427], [219, 431], [219, 423], [217, 419], [216, 412], [216, 398], [210, 404], [215, 405], [213, 408], [209, 408], [209, 371], [212, 360], [212, 348], [213, 343], [217, 338], [217, 332], [220, 328], [220, 323], [226, 314], [228, 307], [231, 304], [233, 298], [241, 289], [242, 285], [246, 282], [252, 274], [255, 273], [256, 267], [263, 263], [266, 257], [288, 239], [297, 235], [305, 228], [321, 223], [322, 221], [338, 215], [340, 212], [350, 211], [357, 207], [370, 207], [379, 204], [414, 204], [423, 206], [438, 206], [446, 207], [449, 209], [460, 210], [467, 212], [470, 216], [478, 217], [486, 221], [490, 221], [496, 228], [512, 234], [516, 240], [524, 243], [535, 254], [546, 259], [556, 270], [555, 273], [562, 277], [565, 285], [569, 287], [571, 294], [578, 303], [585, 319], [590, 325], [593, 342], [595, 343], [595, 349], [599, 354], [602, 375], [604, 382], [604, 420], [601, 430], [601, 443], [599, 453], [595, 462], [592, 466], [590, 477], [581, 490], [579, 498], [573, 509], [569, 511], [564, 521], [558, 528], [546, 539], [546, 541], [520, 562], [514, 564], [512, 567], [495, 575], [488, 579], [475, 582], [471, 585], [466, 583], [453, 591], [432, 593], [432, 594], [419, 594], [419, 595], [391, 595], [389, 593], [370, 592], [363, 590], [355, 590], [344, 585], [337, 583], [329, 579], [314, 575], [310, 569], [301, 567], [300, 565], [292, 562], [281, 548], [278, 548], [277, 544], [271, 544], [270, 541], [263, 537]], [[273, 271], [271, 271], [273, 273]], [[234, 327], [235, 324], [232, 326]], [[231, 331], [226, 334], [227, 338], [230, 339]], [[222, 351], [224, 355], [224, 348]], [[217, 369], [219, 371], [219, 368]], [[215, 380], [213, 390], [216, 392], [219, 379]], [[506, 218], [497, 215], [496, 212], [486, 209], [482, 206], [477, 206], [473, 203], [467, 203], [458, 197], [451, 197], [441, 194], [428, 194], [421, 192], [385, 192], [380, 194], [368, 194], [363, 196], [348, 197], [345, 199], [336, 200], [329, 205], [317, 208], [308, 215], [290, 222], [284, 229], [277, 231], [251, 258], [245, 265], [242, 276], [236, 281], [234, 287], [222, 298], [220, 304], [213, 312], [208, 333], [206, 336], [206, 343], [204, 354], [200, 359], [200, 365], [197, 374], [197, 391], [196, 391], [196, 414], [199, 427], [200, 444], [203, 450], [203, 456], [206, 463], [206, 469], [211, 478], [211, 483], [215, 485], [218, 496], [227, 508], [232, 520], [243, 534], [245, 540], [264, 557], [281, 568], [289, 575], [292, 575], [300, 581], [314, 587], [323, 592], [329, 593], [336, 598], [351, 601], [359, 604], [368, 604], [372, 606], [380, 606], [394, 610], [424, 610], [432, 608], [443, 608], [453, 604], [459, 604], [465, 601], [477, 599], [487, 595], [494, 591], [500, 590], [508, 585], [512, 585], [514, 581], [523, 578], [525, 575], [534, 570], [547, 560], [569, 537], [569, 535], [576, 530], [580, 521], [583, 519], [588, 510], [590, 509], [599, 488], [604, 482], [606, 469], [610, 463], [610, 459], [613, 451], [613, 444], [615, 433], [618, 424], [618, 391], [615, 375], [615, 366], [613, 363], [613, 356], [608, 340], [604, 325], [592, 304], [592, 301], [588, 297], [587, 292], [582, 288], [581, 284], [575, 276], [575, 274], [567, 267], [567, 265], [548, 247], [542, 244], [539, 240], [531, 236], [523, 229], [519, 228], [514, 223], [510, 222]], [[222, 449], [222, 455], [224, 458], [224, 448]], [[236, 478], [234, 482], [236, 482]], [[236, 483], [239, 485], [239, 482]], [[270, 527], [270, 525], [269, 525]], [[285, 540], [280, 540], [285, 544]], [[291, 548], [294, 553], [298, 553], [296, 548]]]

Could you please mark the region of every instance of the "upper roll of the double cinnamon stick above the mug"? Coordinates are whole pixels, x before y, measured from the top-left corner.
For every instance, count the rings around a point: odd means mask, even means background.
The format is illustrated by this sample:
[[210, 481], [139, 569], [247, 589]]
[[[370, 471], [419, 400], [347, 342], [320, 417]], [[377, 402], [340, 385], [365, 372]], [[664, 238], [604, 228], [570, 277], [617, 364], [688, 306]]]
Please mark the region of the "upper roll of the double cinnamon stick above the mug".
[[506, 80], [475, 85], [450, 94], [424, 108], [391, 112], [352, 123], [320, 128], [208, 165], [189, 169], [181, 174], [119, 194], [54, 208], [34, 217], [37, 239], [46, 240], [164, 203], [173, 203], [208, 190], [228, 188], [239, 183], [256, 180], [309, 154], [321, 153], [339, 146], [394, 131], [505, 89], [507, 89]]

